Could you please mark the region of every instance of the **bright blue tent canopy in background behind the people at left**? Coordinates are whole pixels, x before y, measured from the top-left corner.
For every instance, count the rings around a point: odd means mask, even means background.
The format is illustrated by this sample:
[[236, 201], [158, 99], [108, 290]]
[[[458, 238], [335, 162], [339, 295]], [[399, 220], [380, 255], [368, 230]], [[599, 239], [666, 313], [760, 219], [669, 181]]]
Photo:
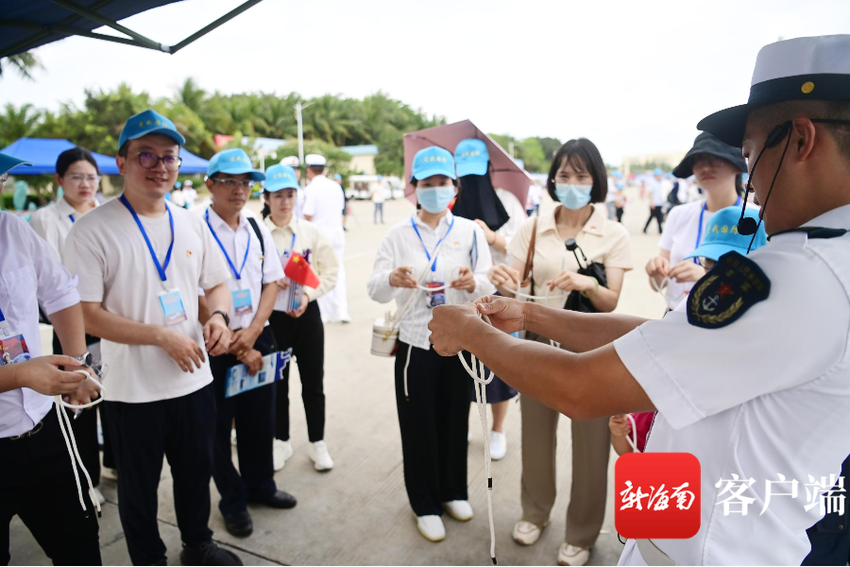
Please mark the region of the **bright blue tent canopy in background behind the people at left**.
[[[32, 167], [19, 167], [15, 170], [15, 176], [20, 175], [43, 175], [56, 173], [56, 159], [65, 150], [76, 147], [68, 140], [56, 140], [52, 138], [20, 138], [11, 145], [0, 150], [4, 153], [32, 163]], [[103, 175], [120, 175], [115, 158], [92, 152], [97, 167]], [[183, 164], [180, 173], [183, 175], [194, 175], [206, 173], [209, 162], [196, 156], [185, 149], [180, 149], [180, 157]]]

